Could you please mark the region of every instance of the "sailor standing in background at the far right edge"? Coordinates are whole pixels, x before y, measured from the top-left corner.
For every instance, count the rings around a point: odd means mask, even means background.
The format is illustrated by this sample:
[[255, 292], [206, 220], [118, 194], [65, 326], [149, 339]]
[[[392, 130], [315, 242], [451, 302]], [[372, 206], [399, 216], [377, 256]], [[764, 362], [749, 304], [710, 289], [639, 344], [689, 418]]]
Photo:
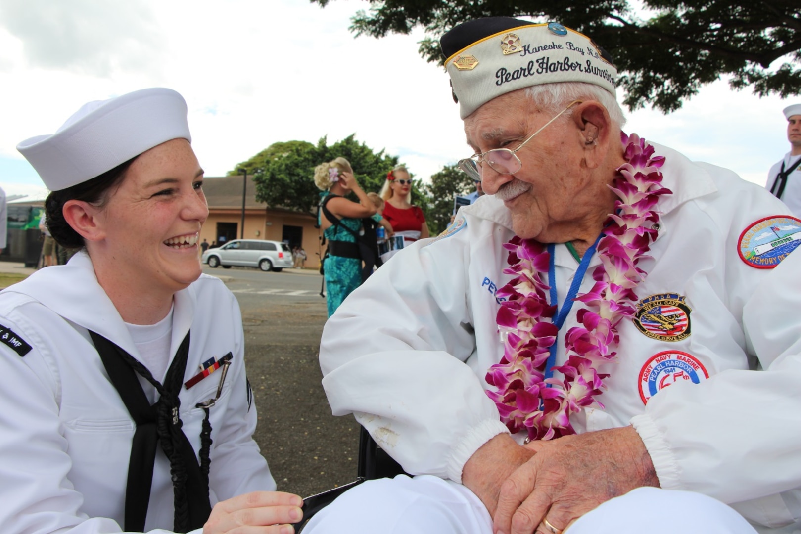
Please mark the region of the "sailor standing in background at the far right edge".
[[782, 199], [793, 215], [801, 217], [801, 104], [784, 108], [790, 151], [767, 173], [765, 187]]

